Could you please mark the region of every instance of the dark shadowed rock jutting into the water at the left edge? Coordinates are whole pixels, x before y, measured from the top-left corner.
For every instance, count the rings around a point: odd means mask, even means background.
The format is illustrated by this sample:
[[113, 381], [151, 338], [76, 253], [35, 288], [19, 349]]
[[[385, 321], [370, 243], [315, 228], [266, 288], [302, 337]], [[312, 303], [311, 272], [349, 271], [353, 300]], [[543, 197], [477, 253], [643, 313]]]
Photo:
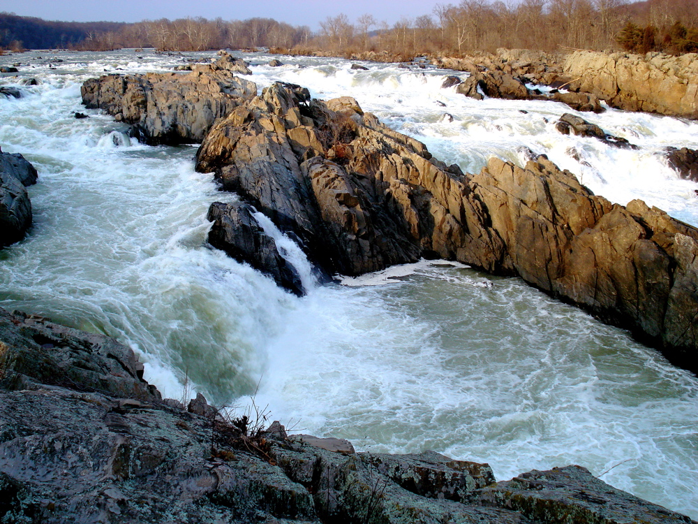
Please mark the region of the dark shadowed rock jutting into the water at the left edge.
[[0, 150], [0, 247], [22, 240], [31, 226], [27, 186], [36, 184], [36, 169], [21, 154]]

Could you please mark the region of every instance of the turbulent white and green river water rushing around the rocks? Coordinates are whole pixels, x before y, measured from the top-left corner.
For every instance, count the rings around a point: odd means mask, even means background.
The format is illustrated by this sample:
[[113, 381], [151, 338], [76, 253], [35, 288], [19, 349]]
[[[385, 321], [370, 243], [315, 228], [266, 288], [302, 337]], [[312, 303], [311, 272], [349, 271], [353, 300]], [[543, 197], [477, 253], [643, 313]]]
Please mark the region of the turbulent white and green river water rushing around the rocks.
[[[211, 56], [208, 54], [207, 56]], [[609, 110], [582, 114], [639, 150], [562, 136], [554, 102], [474, 101], [442, 89], [452, 71], [340, 59], [247, 55], [260, 89], [274, 80], [320, 98], [350, 95], [436, 157], [477, 171], [528, 150], [618, 203], [642, 198], [698, 224], [698, 184], [667, 166], [667, 146], [698, 148], [698, 123]], [[62, 61], [58, 61], [62, 60]], [[296, 298], [206, 244], [213, 201], [195, 146], [147, 147], [80, 105], [107, 72], [167, 71], [151, 51], [28, 52], [22, 99], [0, 96], [0, 147], [38, 168], [34, 226], [0, 252], [0, 305], [130, 344], [147, 379], [181, 397], [269, 405], [272, 419], [364, 451], [434, 449], [492, 465], [498, 479], [570, 463], [618, 488], [698, 518], [698, 379], [623, 330], [519, 279], [421, 262], [328, 286], [273, 224], [311, 292]], [[459, 73], [463, 76], [464, 73]], [[89, 119], [75, 119], [82, 111]], [[448, 113], [450, 117], [445, 117]]]

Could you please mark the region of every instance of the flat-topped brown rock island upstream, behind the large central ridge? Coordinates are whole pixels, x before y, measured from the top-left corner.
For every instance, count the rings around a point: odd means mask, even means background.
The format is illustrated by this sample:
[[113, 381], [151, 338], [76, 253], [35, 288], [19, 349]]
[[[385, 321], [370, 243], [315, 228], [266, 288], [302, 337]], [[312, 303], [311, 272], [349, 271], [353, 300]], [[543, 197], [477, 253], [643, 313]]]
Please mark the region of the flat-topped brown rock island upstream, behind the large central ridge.
[[216, 119], [257, 94], [257, 85], [232, 73], [250, 74], [244, 61], [223, 53], [191, 73], [105, 75], [82, 85], [82, 103], [133, 124], [150, 144], [201, 142]]

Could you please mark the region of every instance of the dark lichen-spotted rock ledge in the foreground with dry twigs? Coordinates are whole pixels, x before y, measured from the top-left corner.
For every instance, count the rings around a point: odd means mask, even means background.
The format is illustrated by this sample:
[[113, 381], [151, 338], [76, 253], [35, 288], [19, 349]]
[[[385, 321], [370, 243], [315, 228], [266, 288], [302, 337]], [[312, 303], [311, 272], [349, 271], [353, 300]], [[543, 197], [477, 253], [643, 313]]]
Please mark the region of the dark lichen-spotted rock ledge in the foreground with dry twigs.
[[185, 409], [128, 347], [1, 309], [0, 405], [2, 523], [693, 522], [580, 466], [496, 482], [433, 451], [264, 430], [201, 395]]

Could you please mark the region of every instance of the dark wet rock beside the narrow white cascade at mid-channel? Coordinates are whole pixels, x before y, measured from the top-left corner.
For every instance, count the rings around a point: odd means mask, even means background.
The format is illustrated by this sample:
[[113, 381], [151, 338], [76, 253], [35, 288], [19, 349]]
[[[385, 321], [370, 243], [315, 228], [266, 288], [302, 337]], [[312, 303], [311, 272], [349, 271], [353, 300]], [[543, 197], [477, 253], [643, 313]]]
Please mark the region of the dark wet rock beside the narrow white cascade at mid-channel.
[[265, 233], [253, 212], [251, 205], [242, 202], [211, 204], [208, 219], [214, 224], [209, 232], [209, 243], [235, 260], [269, 275], [284, 289], [302, 296], [304, 289], [297, 270], [281, 256], [276, 242]]

